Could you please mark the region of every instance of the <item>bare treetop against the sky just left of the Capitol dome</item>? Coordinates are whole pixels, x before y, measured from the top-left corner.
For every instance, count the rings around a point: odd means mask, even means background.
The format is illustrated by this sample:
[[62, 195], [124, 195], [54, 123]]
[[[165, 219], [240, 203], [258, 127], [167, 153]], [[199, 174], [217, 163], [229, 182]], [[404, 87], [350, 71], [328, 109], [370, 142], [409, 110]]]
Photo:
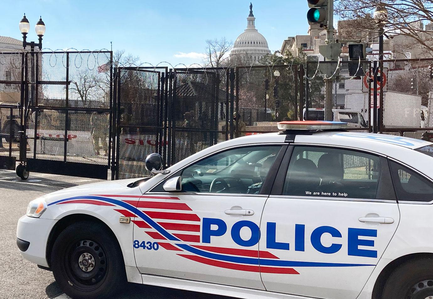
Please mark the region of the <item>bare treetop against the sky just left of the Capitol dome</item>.
[[229, 60], [228, 54], [233, 48], [233, 42], [222, 37], [221, 39], [207, 39], [206, 45], [204, 62], [211, 67], [225, 66]]

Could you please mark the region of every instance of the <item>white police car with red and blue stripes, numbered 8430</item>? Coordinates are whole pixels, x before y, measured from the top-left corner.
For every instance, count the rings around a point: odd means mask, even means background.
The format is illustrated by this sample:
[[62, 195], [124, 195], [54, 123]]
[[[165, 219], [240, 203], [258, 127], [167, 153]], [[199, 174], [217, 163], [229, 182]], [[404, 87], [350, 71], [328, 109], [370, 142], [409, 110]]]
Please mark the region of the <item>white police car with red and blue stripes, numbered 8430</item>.
[[19, 220], [19, 250], [73, 298], [126, 280], [239, 298], [431, 298], [433, 144], [342, 126], [282, 122], [152, 178], [47, 194]]

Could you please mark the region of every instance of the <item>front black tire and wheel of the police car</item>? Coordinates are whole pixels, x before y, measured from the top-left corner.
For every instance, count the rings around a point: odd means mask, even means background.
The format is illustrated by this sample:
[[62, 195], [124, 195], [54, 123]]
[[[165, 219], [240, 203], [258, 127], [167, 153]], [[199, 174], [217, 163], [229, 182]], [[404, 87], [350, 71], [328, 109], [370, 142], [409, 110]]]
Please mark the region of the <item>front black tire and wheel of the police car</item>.
[[[82, 260], [89, 254], [87, 261]], [[111, 298], [126, 282], [116, 237], [103, 224], [90, 221], [71, 224], [60, 233], [52, 249], [51, 269], [63, 292], [74, 299]]]

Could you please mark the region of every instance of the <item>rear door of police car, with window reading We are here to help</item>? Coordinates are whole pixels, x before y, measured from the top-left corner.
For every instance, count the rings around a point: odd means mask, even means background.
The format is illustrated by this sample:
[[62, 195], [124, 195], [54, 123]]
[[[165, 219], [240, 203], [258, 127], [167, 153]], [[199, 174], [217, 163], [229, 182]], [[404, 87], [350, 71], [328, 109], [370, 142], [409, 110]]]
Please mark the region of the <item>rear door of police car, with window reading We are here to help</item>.
[[262, 271], [265, 288], [355, 299], [399, 218], [386, 158], [343, 148], [289, 147], [261, 221], [259, 250], [278, 258], [260, 259], [261, 267], [274, 269]]

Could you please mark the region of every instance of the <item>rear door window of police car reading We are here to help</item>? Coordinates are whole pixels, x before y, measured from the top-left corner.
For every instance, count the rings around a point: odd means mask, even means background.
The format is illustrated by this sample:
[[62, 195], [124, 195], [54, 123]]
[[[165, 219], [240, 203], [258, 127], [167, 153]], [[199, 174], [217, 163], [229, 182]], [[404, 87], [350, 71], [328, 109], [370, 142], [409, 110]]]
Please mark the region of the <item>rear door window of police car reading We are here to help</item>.
[[295, 147], [283, 195], [375, 199], [380, 158], [336, 148]]

